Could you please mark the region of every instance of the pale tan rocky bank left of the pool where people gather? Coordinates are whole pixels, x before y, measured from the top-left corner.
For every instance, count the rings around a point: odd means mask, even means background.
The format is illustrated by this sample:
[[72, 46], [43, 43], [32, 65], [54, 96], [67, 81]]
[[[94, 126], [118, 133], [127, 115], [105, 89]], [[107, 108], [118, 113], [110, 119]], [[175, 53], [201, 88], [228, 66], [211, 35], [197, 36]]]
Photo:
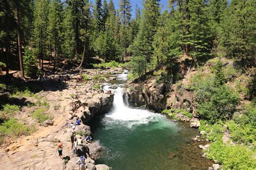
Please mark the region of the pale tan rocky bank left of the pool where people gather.
[[[3, 145], [0, 149], [1, 169], [78, 169], [78, 165], [75, 164], [78, 157], [71, 152], [70, 124], [74, 123], [76, 118], [80, 118], [83, 124], [76, 126], [74, 130], [76, 137], [82, 135], [84, 140], [85, 134], [91, 134], [90, 127], [85, 124], [93, 116], [109, 111], [113, 102], [114, 94], [106, 94], [101, 88], [102, 83], [108, 80], [104, 75], [110, 77], [109, 74], [122, 71], [122, 68], [118, 68], [66, 72], [64, 76], [68, 75], [70, 80], [66, 81], [65, 87], [59, 90], [58, 84], [41, 82], [44, 91], [39, 92], [38, 95], [49, 102], [48, 112], [53, 119], [43, 124], [36, 124], [37, 131], [32, 135], [22, 136], [8, 145]], [[77, 77], [82, 77], [82, 74], [86, 74], [88, 78], [77, 82]], [[20, 118], [32, 121], [31, 110], [35, 108], [23, 107]], [[58, 140], [63, 142], [65, 160], [61, 160], [56, 152]], [[88, 144], [84, 142], [84, 144], [88, 148], [84, 153], [87, 169], [109, 169], [106, 165], [95, 165], [95, 160], [103, 154], [99, 142], [93, 141]]]

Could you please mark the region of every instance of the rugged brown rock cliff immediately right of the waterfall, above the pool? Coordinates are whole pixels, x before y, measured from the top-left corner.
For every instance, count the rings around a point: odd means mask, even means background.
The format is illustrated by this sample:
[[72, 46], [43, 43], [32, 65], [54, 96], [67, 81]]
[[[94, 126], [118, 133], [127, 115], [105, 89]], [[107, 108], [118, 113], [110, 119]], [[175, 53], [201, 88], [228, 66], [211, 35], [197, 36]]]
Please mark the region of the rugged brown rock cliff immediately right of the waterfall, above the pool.
[[129, 83], [126, 86], [123, 98], [130, 106], [146, 105], [156, 112], [165, 109], [168, 91], [164, 83], [157, 84], [155, 79], [150, 79], [144, 84]]

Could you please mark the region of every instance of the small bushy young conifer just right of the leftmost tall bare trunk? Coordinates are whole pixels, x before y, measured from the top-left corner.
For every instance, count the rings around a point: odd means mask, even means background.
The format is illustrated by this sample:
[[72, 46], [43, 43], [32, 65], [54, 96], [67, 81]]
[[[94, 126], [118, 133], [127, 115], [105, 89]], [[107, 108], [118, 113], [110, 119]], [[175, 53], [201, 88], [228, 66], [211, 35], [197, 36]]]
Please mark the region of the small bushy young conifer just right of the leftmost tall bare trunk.
[[23, 62], [24, 72], [26, 76], [35, 77], [37, 72], [37, 60], [36, 57], [33, 55], [32, 50], [29, 49], [29, 46], [25, 47]]

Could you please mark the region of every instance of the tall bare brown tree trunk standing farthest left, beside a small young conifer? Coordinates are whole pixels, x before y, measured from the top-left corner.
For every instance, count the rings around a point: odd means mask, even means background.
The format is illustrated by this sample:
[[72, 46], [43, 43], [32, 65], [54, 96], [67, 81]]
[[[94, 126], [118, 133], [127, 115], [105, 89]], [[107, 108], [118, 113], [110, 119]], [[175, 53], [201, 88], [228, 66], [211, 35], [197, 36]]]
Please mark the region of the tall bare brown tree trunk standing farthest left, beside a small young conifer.
[[17, 38], [18, 38], [18, 51], [19, 51], [19, 68], [21, 70], [21, 78], [25, 79], [24, 77], [24, 69], [23, 69], [23, 57], [22, 57], [22, 44], [21, 44], [21, 25], [19, 23], [19, 11], [18, 11], [18, 6], [16, 6], [16, 12], [17, 12]]

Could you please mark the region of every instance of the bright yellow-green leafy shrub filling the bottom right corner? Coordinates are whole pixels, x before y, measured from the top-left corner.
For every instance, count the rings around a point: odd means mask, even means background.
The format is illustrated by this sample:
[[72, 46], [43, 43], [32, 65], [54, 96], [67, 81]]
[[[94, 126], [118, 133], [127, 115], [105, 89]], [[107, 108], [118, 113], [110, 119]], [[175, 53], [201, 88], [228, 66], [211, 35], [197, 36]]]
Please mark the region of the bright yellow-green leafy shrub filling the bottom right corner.
[[244, 146], [227, 145], [220, 139], [211, 144], [207, 158], [220, 161], [224, 169], [255, 169], [253, 154]]

